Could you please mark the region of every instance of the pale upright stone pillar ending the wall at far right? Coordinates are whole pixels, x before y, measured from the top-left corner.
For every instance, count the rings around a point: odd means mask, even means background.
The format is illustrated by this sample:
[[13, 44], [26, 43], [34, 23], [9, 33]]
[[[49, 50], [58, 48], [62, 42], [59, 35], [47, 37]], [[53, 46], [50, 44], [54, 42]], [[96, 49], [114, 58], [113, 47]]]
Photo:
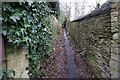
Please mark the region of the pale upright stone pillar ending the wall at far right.
[[118, 24], [119, 24], [119, 8], [118, 2], [111, 2], [111, 60], [110, 60], [110, 73], [111, 78], [119, 78], [119, 52], [118, 52]]

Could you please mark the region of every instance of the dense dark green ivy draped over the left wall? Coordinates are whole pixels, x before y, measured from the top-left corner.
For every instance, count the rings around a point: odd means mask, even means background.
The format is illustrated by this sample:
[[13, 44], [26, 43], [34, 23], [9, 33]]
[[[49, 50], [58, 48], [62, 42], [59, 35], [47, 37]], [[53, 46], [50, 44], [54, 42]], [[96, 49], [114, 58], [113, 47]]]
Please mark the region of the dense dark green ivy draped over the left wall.
[[39, 74], [41, 58], [52, 52], [53, 27], [50, 22], [50, 9], [46, 2], [4, 2], [2, 4], [2, 34], [15, 47], [29, 49], [28, 75]]

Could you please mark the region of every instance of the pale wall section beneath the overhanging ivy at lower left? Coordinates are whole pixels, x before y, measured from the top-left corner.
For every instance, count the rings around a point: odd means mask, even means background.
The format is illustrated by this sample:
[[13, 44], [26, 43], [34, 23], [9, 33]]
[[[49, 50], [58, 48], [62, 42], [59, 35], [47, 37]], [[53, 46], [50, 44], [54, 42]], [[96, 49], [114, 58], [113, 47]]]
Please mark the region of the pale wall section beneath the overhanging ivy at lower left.
[[25, 59], [26, 54], [28, 54], [28, 50], [14, 48], [10, 43], [5, 44], [6, 69], [13, 69], [15, 71], [15, 78], [29, 78], [27, 75], [28, 71], [26, 70], [26, 67], [29, 66], [28, 59]]

